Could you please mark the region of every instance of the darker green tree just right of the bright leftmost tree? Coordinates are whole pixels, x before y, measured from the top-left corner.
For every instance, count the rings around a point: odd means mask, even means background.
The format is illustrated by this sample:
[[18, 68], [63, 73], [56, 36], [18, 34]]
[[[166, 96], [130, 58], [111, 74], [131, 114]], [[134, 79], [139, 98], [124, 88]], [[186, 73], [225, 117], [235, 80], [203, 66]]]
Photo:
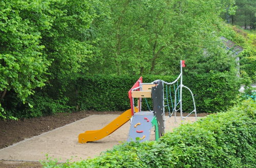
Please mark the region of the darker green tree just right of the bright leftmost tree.
[[92, 58], [88, 35], [96, 17], [92, 7], [96, 2], [66, 0], [50, 4], [54, 20], [51, 29], [42, 31], [41, 43], [45, 45], [44, 54], [52, 61], [44, 88], [52, 98], [61, 97], [68, 83], [81, 70], [87, 70], [84, 63]]

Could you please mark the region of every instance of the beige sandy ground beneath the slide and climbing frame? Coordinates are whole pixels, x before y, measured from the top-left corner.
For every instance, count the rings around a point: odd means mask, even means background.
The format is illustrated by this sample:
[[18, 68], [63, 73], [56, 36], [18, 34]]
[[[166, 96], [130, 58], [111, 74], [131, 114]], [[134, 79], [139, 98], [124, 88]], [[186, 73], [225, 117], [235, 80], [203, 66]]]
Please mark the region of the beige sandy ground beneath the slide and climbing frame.
[[[126, 141], [130, 122], [125, 123], [115, 132], [97, 142], [79, 144], [77, 142], [78, 134], [86, 130], [101, 129], [116, 117], [118, 115], [92, 115], [41, 135], [25, 139], [22, 142], [1, 149], [0, 160], [39, 161], [45, 160], [46, 154], [52, 158], [57, 158], [59, 162], [65, 162], [67, 159], [78, 161], [93, 158], [98, 156], [100, 152]], [[193, 122], [195, 117], [188, 117], [185, 121]], [[169, 118], [165, 122], [165, 130], [171, 131], [179, 126], [180, 123], [180, 117], [177, 117], [177, 123], [174, 122], [174, 118]]]

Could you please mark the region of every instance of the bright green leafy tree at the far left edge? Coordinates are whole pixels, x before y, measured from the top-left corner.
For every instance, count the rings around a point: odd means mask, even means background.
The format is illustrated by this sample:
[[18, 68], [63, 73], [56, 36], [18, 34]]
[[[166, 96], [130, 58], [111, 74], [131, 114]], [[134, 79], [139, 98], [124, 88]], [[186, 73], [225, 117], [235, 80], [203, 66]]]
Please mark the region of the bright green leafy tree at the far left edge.
[[[0, 117], [5, 117], [1, 103], [8, 91], [13, 90], [25, 102], [33, 89], [45, 85], [50, 61], [42, 54], [40, 31], [50, 25], [48, 16], [38, 10], [45, 7], [37, 1], [0, 3]], [[37, 20], [27, 17], [30, 13], [37, 15]]]

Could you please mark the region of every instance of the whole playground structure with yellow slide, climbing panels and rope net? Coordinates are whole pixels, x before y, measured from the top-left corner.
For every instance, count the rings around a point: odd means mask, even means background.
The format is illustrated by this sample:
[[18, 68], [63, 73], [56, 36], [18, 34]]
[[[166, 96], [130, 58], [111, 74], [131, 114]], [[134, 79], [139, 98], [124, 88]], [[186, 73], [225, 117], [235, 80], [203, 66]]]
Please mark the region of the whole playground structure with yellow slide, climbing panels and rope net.
[[[181, 121], [192, 113], [195, 113], [197, 120], [197, 110], [193, 93], [189, 88], [182, 84], [183, 67], [185, 67], [185, 61], [180, 61], [180, 74], [173, 82], [155, 80], [151, 83], [143, 83], [142, 77], [140, 77], [128, 92], [131, 109], [126, 110], [123, 114], [100, 130], [90, 130], [80, 133], [78, 136], [78, 142], [87, 143], [97, 141], [113, 133], [130, 120], [131, 126], [129, 136], [127, 138], [128, 142], [144, 142], [150, 140], [152, 127], [155, 129], [155, 139], [158, 140], [164, 134], [164, 121], [172, 117], [173, 114], [175, 122], [177, 122], [177, 112], [180, 112]], [[180, 81], [180, 85], [178, 81]], [[190, 92], [194, 105], [194, 109], [185, 117], [183, 117], [182, 111], [183, 88]], [[153, 110], [150, 109], [147, 98], [152, 99]], [[142, 99], [145, 100], [149, 111], [142, 111]], [[137, 105], [135, 105], [136, 102]], [[168, 111], [168, 117], [165, 117], [165, 111]]]

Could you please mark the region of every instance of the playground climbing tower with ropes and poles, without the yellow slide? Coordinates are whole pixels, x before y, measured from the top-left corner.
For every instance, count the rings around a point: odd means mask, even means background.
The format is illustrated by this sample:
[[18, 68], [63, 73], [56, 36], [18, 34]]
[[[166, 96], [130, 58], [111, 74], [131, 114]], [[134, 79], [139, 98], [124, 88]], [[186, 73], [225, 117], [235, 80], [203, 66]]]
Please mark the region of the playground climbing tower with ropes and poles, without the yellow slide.
[[[166, 82], [163, 80], [155, 80], [151, 83], [143, 83], [142, 82], [142, 77], [140, 77], [137, 82], [134, 84], [134, 86], [131, 88], [129, 91], [129, 98], [130, 98], [130, 103], [131, 103], [131, 112], [132, 112], [132, 119], [131, 119], [131, 124], [138, 124], [139, 121], [141, 120], [140, 118], [143, 118], [144, 116], [140, 115], [149, 115], [151, 116], [152, 124], [155, 126], [155, 133], [156, 133], [156, 140], [161, 137], [164, 133], [164, 121], [167, 120], [168, 118], [172, 117], [172, 115], [175, 115], [175, 122], [176, 120], [176, 113], [180, 111], [180, 116], [181, 116], [181, 121], [188, 117], [190, 114], [195, 113], [195, 117], [197, 120], [197, 110], [196, 110], [196, 104], [195, 104], [195, 99], [193, 96], [193, 93], [191, 90], [184, 86], [182, 83], [182, 68], [185, 67], [185, 61], [180, 61], [180, 74], [179, 76], [173, 81], [173, 82]], [[180, 80], [180, 85], [179, 81]], [[165, 91], [164, 91], [164, 85], [165, 85]], [[176, 88], [177, 85], [177, 88]], [[173, 103], [173, 98], [172, 98], [172, 91], [171, 88], [172, 86], [174, 87], [173, 92], [174, 92], [174, 103]], [[168, 94], [168, 87], [169, 87], [169, 94]], [[185, 88], [187, 89], [191, 97], [193, 99], [193, 104], [194, 104], [194, 109], [185, 117], [183, 117], [183, 111], [182, 111], [182, 89]], [[168, 98], [169, 96], [169, 98]], [[177, 100], [178, 96], [178, 100]], [[141, 111], [141, 103], [142, 103], [142, 98], [152, 98], [153, 101], [153, 111]], [[137, 103], [137, 109], [138, 109], [138, 114], [135, 114], [135, 99], [138, 99]], [[169, 105], [169, 100], [172, 103], [172, 111], [170, 110], [170, 105]], [[166, 103], [165, 103], [166, 101]], [[147, 101], [146, 101], [147, 103]], [[147, 104], [148, 106], [148, 104]], [[168, 117], [165, 119], [165, 107], [168, 107]], [[178, 108], [179, 107], [179, 108]], [[178, 108], [178, 109], [177, 109]], [[149, 106], [148, 106], [148, 109]], [[146, 113], [145, 113], [146, 112]], [[150, 112], [150, 113], [148, 113]], [[171, 113], [172, 112], [172, 113]], [[154, 117], [153, 117], [154, 115]], [[129, 138], [128, 141], [131, 139], [134, 139], [134, 137], [139, 136], [139, 133], [145, 132], [148, 134], [148, 124], [147, 125], [141, 125], [141, 129], [143, 130], [136, 130], [138, 129], [137, 127], [134, 127], [131, 125], [130, 128], [130, 133], [129, 133]], [[138, 134], [138, 135], [137, 135]], [[148, 140], [148, 135], [145, 134], [145, 136], [140, 137], [141, 141]]]

